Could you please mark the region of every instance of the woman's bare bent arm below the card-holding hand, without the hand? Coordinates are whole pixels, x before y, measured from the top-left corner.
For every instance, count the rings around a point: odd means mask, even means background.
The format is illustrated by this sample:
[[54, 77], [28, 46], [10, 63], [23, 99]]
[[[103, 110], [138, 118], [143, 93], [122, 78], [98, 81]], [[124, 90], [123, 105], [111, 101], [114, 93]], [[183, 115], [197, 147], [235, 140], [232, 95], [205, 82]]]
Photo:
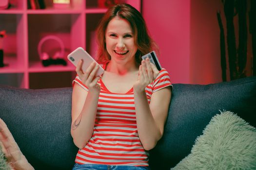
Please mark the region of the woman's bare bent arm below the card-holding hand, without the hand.
[[138, 136], [143, 148], [151, 150], [163, 135], [164, 123], [171, 101], [171, 88], [170, 86], [165, 87], [153, 93], [150, 104], [148, 104], [145, 92], [136, 92], [134, 100]]

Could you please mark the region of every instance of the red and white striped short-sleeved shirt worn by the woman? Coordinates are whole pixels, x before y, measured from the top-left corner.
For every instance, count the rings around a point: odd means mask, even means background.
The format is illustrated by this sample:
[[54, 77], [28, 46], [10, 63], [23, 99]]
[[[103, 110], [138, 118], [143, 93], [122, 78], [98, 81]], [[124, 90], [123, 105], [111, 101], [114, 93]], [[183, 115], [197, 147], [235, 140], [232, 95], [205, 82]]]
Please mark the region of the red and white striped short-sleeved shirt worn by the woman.
[[[103, 67], [104, 68], [104, 67]], [[88, 91], [77, 76], [78, 83]], [[133, 89], [125, 94], [110, 92], [99, 79], [100, 94], [91, 139], [76, 156], [79, 164], [148, 166], [148, 152], [138, 137]], [[162, 69], [154, 82], [145, 88], [148, 102], [152, 93], [170, 86], [170, 76]]]

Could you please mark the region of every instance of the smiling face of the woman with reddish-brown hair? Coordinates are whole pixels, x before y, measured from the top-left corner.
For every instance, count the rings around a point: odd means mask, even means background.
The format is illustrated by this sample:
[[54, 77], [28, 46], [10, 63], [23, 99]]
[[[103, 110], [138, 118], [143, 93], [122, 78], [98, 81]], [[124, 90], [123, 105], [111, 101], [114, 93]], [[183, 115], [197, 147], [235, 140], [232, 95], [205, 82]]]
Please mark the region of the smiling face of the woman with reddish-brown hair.
[[111, 61], [118, 64], [135, 64], [134, 34], [130, 23], [120, 17], [114, 17], [106, 29], [106, 48], [111, 56]]

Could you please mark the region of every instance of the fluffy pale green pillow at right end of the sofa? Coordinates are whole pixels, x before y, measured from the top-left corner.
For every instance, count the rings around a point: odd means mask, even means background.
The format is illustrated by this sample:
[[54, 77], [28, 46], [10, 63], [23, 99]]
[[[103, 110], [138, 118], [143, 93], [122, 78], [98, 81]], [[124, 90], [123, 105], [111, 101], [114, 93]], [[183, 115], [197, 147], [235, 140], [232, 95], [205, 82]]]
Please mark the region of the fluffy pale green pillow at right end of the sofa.
[[232, 112], [214, 116], [171, 170], [256, 170], [256, 128]]

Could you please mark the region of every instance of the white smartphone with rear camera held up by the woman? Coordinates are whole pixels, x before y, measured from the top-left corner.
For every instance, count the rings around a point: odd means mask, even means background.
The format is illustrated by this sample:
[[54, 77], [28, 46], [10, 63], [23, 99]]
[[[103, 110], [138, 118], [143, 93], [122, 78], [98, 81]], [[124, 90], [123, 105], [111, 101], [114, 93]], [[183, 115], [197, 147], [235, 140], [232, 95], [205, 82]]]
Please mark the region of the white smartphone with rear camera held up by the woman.
[[[92, 62], [96, 62], [94, 58], [91, 57], [91, 55], [81, 47], [77, 48], [76, 50], [68, 54], [68, 60], [71, 63], [73, 63], [76, 67], [81, 59], [83, 60], [83, 64], [82, 64], [83, 71], [85, 71]], [[99, 66], [96, 76], [100, 76], [101, 74], [103, 74], [104, 69], [97, 62], [96, 64]]]

